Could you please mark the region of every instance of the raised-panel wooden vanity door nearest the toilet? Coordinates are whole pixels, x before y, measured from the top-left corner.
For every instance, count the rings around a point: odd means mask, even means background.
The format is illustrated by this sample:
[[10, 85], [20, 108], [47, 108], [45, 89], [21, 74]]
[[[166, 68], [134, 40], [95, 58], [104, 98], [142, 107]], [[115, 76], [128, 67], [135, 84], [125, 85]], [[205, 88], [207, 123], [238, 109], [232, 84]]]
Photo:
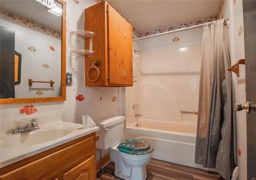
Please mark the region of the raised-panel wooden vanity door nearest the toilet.
[[95, 180], [96, 170], [95, 170], [94, 156], [91, 156], [86, 161], [78, 164], [68, 172], [63, 174], [64, 180]]

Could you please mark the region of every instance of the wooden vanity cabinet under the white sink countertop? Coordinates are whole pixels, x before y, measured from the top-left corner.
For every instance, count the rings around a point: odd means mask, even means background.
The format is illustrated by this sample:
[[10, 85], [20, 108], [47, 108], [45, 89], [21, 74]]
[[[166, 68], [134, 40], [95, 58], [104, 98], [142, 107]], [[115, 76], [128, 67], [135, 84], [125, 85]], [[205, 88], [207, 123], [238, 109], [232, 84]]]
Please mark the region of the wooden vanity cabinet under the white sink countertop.
[[1, 180], [96, 180], [95, 132], [0, 169]]

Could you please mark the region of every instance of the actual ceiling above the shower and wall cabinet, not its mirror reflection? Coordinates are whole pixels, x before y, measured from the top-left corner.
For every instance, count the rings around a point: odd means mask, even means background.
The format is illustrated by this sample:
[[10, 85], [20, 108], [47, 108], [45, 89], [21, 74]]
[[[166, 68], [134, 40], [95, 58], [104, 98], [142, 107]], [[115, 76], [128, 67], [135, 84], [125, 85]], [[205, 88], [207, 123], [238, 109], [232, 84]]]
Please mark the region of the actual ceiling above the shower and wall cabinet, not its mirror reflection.
[[216, 16], [220, 0], [106, 0], [139, 32]]

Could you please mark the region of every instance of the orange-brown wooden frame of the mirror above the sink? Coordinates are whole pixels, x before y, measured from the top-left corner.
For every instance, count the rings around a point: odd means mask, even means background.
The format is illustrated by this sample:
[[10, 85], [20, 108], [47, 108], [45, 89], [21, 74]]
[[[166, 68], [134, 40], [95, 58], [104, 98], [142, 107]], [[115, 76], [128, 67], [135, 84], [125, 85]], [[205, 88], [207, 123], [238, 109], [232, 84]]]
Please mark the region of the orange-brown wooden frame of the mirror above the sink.
[[66, 2], [56, 0], [62, 4], [62, 40], [61, 40], [61, 96], [47, 98], [6, 98], [0, 99], [0, 104], [19, 104], [34, 102], [52, 102], [66, 100]]

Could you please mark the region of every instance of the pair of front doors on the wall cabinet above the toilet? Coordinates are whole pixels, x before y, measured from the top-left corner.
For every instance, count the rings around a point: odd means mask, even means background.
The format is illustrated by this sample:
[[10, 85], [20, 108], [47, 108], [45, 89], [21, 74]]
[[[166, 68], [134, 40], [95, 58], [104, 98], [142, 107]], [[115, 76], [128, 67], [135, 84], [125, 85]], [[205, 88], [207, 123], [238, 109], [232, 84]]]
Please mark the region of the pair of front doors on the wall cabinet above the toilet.
[[109, 83], [132, 85], [132, 27], [108, 5]]

